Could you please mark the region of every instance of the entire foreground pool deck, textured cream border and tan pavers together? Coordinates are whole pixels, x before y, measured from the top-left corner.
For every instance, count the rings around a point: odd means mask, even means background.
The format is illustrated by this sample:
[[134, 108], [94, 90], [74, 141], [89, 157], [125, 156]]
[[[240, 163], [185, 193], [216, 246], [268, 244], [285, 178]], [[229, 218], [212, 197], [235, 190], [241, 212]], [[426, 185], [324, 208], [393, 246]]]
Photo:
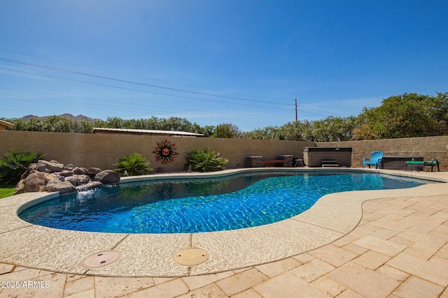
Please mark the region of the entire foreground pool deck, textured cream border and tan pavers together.
[[[384, 172], [448, 181], [447, 172]], [[447, 184], [325, 195], [286, 221], [197, 234], [73, 232], [21, 221], [20, 206], [43, 195], [0, 200], [0, 281], [50, 287], [0, 288], [0, 297], [448, 297]], [[173, 257], [186, 248], [204, 249], [209, 260], [178, 265]], [[80, 266], [108, 250], [121, 258]]]

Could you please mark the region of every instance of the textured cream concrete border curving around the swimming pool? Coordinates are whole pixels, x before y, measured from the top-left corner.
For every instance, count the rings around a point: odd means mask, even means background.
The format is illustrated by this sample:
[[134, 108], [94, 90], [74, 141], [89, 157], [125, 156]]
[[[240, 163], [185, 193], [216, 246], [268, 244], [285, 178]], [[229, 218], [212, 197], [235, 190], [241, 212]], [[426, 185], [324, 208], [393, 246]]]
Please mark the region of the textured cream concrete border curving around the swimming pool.
[[[152, 174], [125, 177], [120, 183], [142, 180], [223, 177], [258, 171], [379, 172], [448, 182], [447, 172], [403, 172], [357, 168], [247, 168], [211, 173]], [[32, 225], [18, 212], [32, 204], [56, 198], [58, 193], [23, 193], [0, 200], [0, 262], [69, 274], [97, 276], [179, 277], [214, 274], [283, 260], [324, 246], [348, 234], [362, 218], [362, 204], [379, 198], [409, 198], [448, 194], [448, 184], [384, 191], [349, 191], [320, 198], [311, 209], [285, 221], [254, 228], [195, 234], [111, 234], [77, 232]], [[177, 252], [202, 248], [209, 259], [183, 266]], [[83, 259], [100, 251], [119, 251], [111, 265], [87, 269]]]

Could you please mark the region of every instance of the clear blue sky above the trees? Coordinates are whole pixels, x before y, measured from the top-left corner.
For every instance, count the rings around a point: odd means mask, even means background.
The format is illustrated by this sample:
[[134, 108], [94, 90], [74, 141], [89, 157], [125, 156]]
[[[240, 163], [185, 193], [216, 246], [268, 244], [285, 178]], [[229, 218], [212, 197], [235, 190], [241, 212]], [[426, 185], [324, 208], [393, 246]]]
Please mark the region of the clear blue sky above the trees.
[[448, 91], [447, 1], [5, 0], [0, 117], [242, 131]]

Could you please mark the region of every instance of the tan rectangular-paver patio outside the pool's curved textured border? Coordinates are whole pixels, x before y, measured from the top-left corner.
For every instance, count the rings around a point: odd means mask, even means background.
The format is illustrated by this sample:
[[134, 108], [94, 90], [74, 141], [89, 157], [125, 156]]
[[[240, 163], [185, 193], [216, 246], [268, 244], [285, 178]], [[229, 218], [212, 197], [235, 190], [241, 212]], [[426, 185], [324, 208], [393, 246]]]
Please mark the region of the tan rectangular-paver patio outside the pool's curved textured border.
[[0, 297], [448, 298], [448, 191], [369, 200], [362, 210], [356, 228], [332, 243], [217, 274], [120, 278], [0, 263]]

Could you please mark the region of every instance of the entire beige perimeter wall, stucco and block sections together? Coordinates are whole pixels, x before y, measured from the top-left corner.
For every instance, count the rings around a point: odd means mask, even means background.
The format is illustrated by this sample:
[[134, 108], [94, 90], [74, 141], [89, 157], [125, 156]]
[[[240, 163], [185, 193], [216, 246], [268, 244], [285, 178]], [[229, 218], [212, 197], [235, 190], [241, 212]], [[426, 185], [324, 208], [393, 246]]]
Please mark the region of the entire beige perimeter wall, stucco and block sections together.
[[[176, 156], [167, 165], [155, 161], [153, 151], [158, 142], [168, 140], [176, 144]], [[346, 142], [297, 142], [287, 140], [215, 139], [208, 137], [160, 137], [149, 135], [102, 135], [91, 133], [42, 133], [32, 131], [0, 131], [0, 156], [12, 148], [33, 149], [46, 154], [45, 159], [80, 167], [112, 169], [117, 158], [138, 152], [151, 161], [156, 171], [182, 171], [185, 153], [209, 147], [228, 158], [228, 168], [244, 167], [246, 156], [262, 156], [263, 160], [276, 159], [278, 155], [292, 154], [302, 157], [305, 146], [352, 147], [351, 165], [361, 167], [363, 157], [380, 150], [386, 156], [423, 156], [437, 158], [440, 170], [448, 170], [448, 136], [409, 137], [391, 140], [366, 140]]]

